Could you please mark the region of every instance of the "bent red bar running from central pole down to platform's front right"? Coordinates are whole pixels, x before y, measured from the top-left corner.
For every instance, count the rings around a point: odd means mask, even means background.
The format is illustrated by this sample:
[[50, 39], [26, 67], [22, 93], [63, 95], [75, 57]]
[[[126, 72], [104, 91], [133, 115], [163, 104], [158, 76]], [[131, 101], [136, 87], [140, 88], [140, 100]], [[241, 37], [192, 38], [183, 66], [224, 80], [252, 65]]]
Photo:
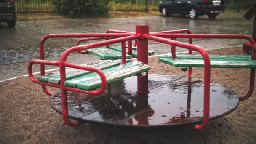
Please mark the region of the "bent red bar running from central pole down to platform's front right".
[[[191, 35], [191, 34], [189, 34]], [[210, 73], [211, 73], [211, 66], [210, 66], [210, 58], [202, 47], [199, 47], [197, 45], [191, 45], [187, 43], [182, 43], [174, 40], [168, 40], [161, 37], [155, 37], [152, 35], [144, 34], [143, 37], [148, 38], [149, 40], [155, 40], [161, 43], [166, 43], [170, 45], [176, 45], [181, 48], [187, 48], [194, 51], [198, 51], [203, 56], [205, 67], [204, 67], [204, 104], [203, 104], [203, 123], [201, 125], [195, 125], [196, 129], [202, 129], [205, 128], [209, 123], [209, 110], [210, 110]]]

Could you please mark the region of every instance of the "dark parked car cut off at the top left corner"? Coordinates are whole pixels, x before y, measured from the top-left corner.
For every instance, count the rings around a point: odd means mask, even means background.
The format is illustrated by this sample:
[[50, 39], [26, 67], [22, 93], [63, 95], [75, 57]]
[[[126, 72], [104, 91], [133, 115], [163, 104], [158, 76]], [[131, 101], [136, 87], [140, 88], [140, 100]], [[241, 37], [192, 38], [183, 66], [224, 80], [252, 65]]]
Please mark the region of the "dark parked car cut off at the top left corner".
[[8, 27], [15, 27], [16, 12], [14, 0], [0, 0], [0, 22], [6, 22]]

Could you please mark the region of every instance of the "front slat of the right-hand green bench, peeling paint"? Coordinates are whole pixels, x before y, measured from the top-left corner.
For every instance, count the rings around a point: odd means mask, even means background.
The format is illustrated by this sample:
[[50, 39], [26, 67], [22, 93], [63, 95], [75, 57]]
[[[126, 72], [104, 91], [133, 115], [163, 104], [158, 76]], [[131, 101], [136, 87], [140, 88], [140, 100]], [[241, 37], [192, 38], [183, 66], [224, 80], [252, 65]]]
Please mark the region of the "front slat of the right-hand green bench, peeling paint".
[[[159, 61], [174, 67], [204, 67], [203, 59], [160, 58]], [[256, 60], [252, 59], [211, 59], [211, 67], [215, 68], [256, 68]]]

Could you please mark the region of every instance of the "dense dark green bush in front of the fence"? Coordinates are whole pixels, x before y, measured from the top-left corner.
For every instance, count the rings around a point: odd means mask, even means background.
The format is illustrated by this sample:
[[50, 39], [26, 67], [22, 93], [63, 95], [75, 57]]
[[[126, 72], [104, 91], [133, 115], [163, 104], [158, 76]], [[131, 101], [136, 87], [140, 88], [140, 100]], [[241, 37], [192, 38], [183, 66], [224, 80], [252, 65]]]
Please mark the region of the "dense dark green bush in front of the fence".
[[110, 0], [53, 0], [57, 11], [64, 16], [106, 16]]

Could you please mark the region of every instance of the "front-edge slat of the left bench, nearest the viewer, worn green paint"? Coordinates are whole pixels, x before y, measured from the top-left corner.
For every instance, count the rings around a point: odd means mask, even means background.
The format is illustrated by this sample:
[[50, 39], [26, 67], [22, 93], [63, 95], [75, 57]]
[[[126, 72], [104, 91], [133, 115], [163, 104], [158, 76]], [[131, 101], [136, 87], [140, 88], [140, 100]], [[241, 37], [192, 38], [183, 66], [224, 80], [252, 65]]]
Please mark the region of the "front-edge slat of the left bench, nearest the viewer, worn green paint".
[[[140, 65], [126, 68], [126, 69], [121, 69], [116, 72], [111, 72], [106, 75], [107, 83], [113, 83], [118, 80], [123, 80], [124, 78], [131, 77], [133, 75], [138, 75], [142, 72], [147, 72], [149, 69], [150, 69], [149, 65], [140, 64]], [[77, 84], [78, 88], [85, 89], [85, 90], [96, 89], [96, 88], [99, 88], [100, 86], [101, 86], [101, 79], [99, 76]]]

